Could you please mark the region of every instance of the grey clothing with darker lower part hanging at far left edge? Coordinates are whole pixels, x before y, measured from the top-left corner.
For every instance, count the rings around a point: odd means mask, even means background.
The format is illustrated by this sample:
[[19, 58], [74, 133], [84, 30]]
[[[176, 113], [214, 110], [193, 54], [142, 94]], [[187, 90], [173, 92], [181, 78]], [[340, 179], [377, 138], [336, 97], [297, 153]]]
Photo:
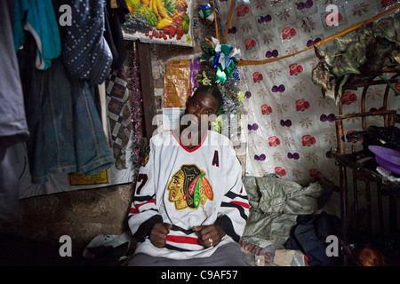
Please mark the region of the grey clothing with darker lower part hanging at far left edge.
[[20, 71], [12, 39], [12, 1], [0, 1], [0, 223], [20, 220], [14, 164], [18, 145], [29, 136]]

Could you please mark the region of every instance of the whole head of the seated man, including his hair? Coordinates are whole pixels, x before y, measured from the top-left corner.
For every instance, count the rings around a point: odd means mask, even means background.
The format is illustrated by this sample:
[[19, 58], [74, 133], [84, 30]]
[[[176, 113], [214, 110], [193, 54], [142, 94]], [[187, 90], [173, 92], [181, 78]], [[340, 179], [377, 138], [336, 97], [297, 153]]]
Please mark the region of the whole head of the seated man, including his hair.
[[216, 118], [224, 100], [222, 94], [215, 85], [201, 85], [186, 102], [185, 114], [193, 114], [196, 118], [193, 122], [202, 124], [210, 122], [210, 115]]

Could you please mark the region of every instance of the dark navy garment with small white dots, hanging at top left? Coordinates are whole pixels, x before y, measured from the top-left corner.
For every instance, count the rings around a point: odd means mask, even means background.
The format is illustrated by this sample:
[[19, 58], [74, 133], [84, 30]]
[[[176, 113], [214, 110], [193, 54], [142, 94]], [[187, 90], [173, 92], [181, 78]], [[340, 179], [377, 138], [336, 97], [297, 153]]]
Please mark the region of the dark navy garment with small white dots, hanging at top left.
[[62, 59], [68, 74], [90, 84], [103, 83], [113, 61], [103, 36], [103, 0], [72, 0], [72, 25], [62, 31]]

